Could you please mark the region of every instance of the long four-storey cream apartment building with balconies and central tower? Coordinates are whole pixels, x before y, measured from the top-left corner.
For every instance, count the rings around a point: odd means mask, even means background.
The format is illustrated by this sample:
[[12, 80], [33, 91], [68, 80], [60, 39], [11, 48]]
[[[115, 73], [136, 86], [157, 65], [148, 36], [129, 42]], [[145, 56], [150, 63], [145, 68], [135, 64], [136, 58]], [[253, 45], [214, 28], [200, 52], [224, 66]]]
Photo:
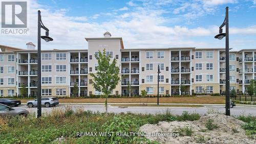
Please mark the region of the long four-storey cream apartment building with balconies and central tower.
[[[121, 81], [113, 90], [116, 95], [138, 95], [141, 90], [169, 95], [225, 92], [225, 49], [167, 47], [155, 49], [125, 49], [121, 37], [85, 38], [88, 49], [42, 50], [42, 96], [69, 97], [75, 84], [79, 96], [101, 94], [92, 85], [90, 73], [96, 73], [98, 51], [106, 50], [117, 60]], [[31, 42], [27, 49], [0, 45], [0, 97], [19, 95], [22, 86], [28, 95], [37, 91], [37, 50]], [[246, 93], [250, 80], [256, 79], [256, 49], [229, 53], [230, 89]], [[183, 93], [180, 86], [185, 86]], [[130, 87], [130, 92], [127, 88]]]

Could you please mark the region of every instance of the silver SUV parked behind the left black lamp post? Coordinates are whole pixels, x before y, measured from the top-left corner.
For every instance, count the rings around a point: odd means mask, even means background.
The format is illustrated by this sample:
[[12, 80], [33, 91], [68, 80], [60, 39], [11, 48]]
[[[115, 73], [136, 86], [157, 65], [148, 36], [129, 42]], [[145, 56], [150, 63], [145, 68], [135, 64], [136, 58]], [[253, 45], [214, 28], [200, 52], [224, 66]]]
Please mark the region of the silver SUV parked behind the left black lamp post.
[[[56, 106], [59, 104], [59, 100], [57, 98], [41, 98], [41, 105], [44, 105], [45, 107], [50, 106]], [[34, 106], [37, 106], [37, 99], [33, 101], [28, 101], [27, 106], [32, 108]]]

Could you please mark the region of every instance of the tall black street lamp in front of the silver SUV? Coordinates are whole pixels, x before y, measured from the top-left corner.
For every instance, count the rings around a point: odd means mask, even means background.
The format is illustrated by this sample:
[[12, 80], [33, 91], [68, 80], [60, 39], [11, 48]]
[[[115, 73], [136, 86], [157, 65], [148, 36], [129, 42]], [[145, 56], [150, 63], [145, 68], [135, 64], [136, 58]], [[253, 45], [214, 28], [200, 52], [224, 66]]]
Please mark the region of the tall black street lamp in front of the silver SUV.
[[[46, 42], [53, 41], [49, 37], [49, 29], [47, 29], [41, 20], [41, 12], [38, 10], [38, 21], [37, 21], [37, 118], [41, 117], [41, 39], [44, 39]], [[41, 28], [46, 30], [46, 35], [41, 36]]]

